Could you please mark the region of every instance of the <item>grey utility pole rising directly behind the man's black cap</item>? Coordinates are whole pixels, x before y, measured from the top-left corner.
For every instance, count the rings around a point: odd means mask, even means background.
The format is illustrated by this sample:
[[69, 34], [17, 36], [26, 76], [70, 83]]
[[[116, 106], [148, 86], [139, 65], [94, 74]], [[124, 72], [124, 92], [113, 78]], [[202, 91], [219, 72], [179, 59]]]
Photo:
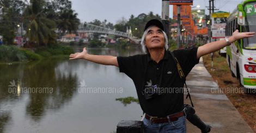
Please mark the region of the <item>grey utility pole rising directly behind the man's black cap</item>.
[[162, 0], [162, 23], [169, 41], [169, 0]]

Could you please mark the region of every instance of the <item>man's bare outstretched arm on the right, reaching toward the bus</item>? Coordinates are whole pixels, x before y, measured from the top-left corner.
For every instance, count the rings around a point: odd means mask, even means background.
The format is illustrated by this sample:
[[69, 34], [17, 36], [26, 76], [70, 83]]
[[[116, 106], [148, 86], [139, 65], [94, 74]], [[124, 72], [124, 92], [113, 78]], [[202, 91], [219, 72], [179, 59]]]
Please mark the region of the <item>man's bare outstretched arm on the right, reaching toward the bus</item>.
[[[255, 32], [238, 32], [238, 30], [236, 30], [235, 32], [233, 32], [233, 35], [230, 36], [228, 39], [229, 39], [230, 43], [233, 43], [238, 39], [242, 39], [242, 38], [246, 38], [246, 37], [253, 37], [254, 34], [255, 34]], [[211, 42], [211, 43], [199, 46], [198, 50], [197, 50], [197, 58], [200, 58], [201, 56], [210, 54], [211, 52], [220, 50], [220, 49], [224, 48], [225, 46], [227, 46], [227, 42], [225, 40]]]

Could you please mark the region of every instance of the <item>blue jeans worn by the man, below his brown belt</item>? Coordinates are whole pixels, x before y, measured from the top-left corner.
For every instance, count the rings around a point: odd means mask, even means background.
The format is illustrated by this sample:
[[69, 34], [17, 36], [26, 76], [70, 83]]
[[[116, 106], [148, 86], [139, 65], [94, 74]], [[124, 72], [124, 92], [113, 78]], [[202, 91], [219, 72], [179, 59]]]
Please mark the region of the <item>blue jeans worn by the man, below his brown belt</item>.
[[148, 119], [144, 118], [145, 133], [185, 133], [186, 132], [186, 116], [179, 117], [175, 122], [170, 123], [151, 123]]

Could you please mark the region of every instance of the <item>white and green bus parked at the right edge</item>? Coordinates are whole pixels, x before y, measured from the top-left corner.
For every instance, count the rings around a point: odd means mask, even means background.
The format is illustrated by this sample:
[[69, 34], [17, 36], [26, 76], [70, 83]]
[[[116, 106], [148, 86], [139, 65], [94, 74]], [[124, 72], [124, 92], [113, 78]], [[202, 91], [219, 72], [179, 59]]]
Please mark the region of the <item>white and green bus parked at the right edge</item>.
[[[226, 36], [235, 30], [256, 31], [256, 0], [247, 0], [236, 6], [227, 18]], [[232, 76], [250, 93], [256, 90], [256, 36], [243, 38], [227, 46], [227, 63]]]

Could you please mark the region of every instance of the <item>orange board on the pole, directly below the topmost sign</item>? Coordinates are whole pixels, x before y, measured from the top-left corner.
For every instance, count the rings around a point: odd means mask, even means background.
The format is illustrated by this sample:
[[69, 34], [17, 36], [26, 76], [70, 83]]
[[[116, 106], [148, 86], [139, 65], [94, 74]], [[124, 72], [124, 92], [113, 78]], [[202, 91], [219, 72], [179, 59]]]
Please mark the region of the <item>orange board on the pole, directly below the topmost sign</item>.
[[[180, 6], [180, 19], [190, 19], [191, 6], [181, 5]], [[177, 5], [173, 5], [173, 19], [178, 19], [177, 16]]]

